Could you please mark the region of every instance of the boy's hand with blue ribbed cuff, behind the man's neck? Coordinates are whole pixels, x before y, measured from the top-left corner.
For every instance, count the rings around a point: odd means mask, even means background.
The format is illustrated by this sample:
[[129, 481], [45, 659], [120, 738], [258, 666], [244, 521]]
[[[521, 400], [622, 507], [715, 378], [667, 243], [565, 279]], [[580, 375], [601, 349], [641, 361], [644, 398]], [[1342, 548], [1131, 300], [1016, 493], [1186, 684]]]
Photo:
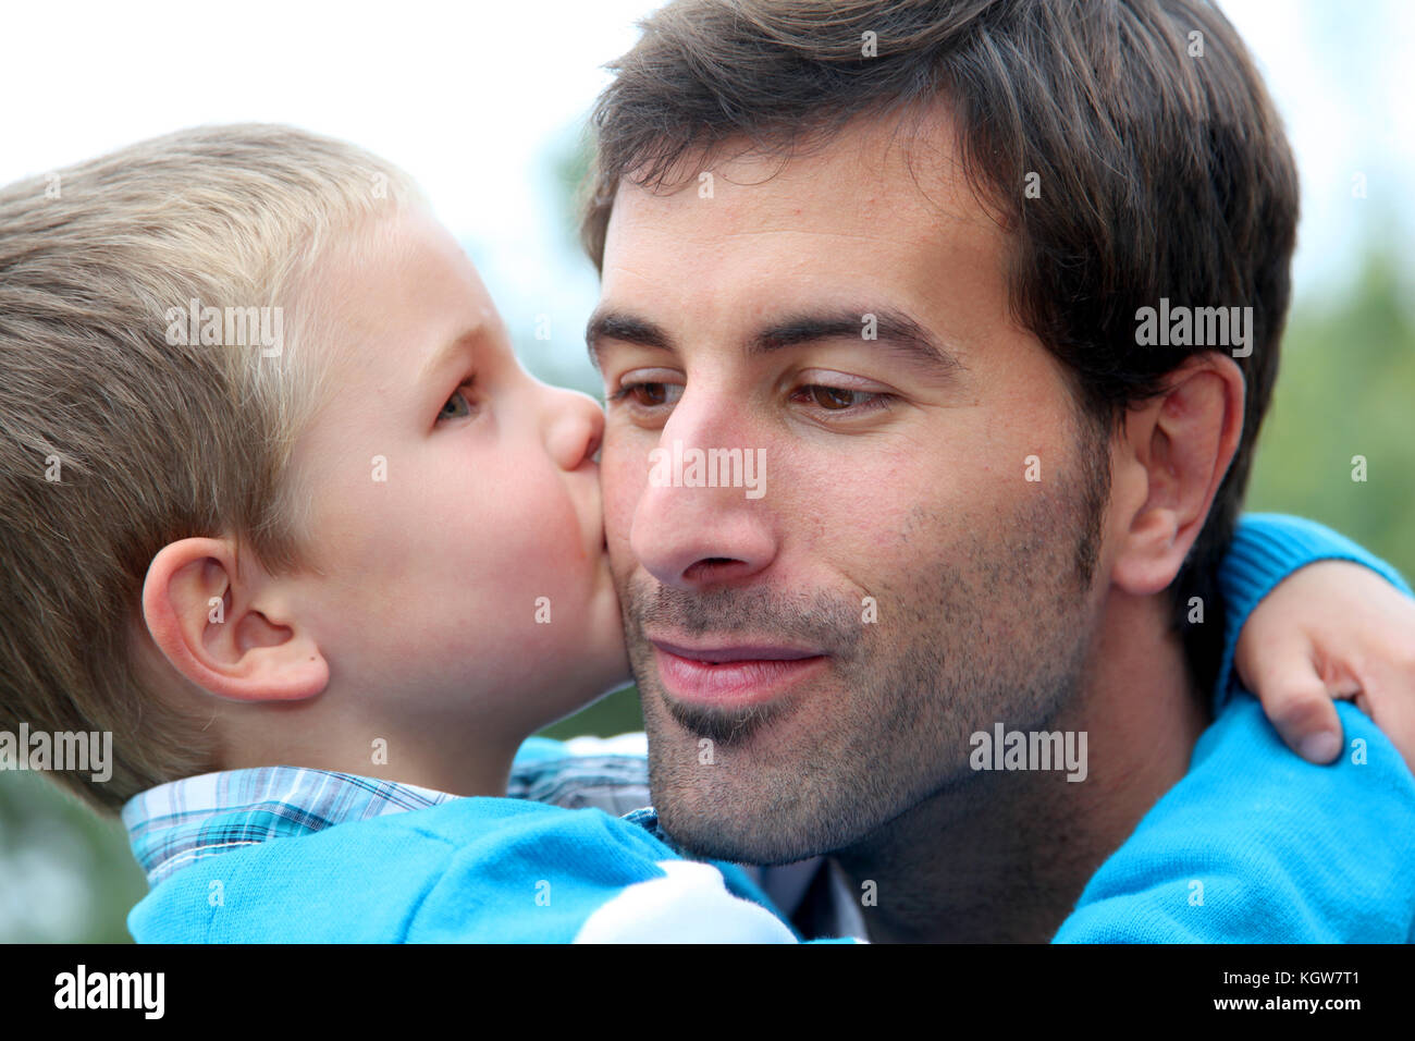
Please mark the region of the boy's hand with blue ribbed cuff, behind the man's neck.
[[1305, 759], [1341, 749], [1354, 698], [1415, 770], [1415, 601], [1392, 567], [1315, 521], [1245, 516], [1218, 572], [1225, 649], [1215, 712], [1247, 687]]

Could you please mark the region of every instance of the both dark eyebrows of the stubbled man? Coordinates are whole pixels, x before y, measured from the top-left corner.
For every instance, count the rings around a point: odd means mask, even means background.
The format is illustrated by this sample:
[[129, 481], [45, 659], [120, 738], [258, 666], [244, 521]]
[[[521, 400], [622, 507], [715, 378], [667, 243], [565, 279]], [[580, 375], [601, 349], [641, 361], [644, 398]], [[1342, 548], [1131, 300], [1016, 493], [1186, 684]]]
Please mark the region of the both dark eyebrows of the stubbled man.
[[[866, 337], [866, 331], [873, 336]], [[604, 340], [620, 340], [642, 347], [676, 351], [674, 339], [658, 324], [628, 312], [601, 307], [590, 316], [584, 344], [594, 368], [600, 367]], [[801, 312], [777, 319], [757, 330], [747, 341], [749, 354], [767, 354], [784, 347], [821, 340], [850, 340], [900, 354], [906, 361], [944, 375], [954, 375], [964, 365], [934, 336], [908, 314], [891, 307], [831, 309]]]

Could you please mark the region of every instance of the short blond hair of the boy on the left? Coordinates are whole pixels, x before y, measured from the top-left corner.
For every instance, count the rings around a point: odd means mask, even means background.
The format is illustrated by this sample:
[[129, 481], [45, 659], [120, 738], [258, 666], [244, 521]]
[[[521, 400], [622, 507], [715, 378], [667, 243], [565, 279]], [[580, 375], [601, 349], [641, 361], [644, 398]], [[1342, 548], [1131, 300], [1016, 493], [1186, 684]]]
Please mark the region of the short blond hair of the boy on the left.
[[[361, 149], [260, 125], [0, 190], [0, 731], [110, 731], [110, 780], [57, 775], [98, 809], [215, 769], [214, 735], [137, 664], [143, 579], [194, 535], [308, 565], [286, 470], [334, 346], [301, 300], [327, 244], [416, 201]], [[184, 343], [194, 300], [279, 309], [280, 341], [228, 319]]]

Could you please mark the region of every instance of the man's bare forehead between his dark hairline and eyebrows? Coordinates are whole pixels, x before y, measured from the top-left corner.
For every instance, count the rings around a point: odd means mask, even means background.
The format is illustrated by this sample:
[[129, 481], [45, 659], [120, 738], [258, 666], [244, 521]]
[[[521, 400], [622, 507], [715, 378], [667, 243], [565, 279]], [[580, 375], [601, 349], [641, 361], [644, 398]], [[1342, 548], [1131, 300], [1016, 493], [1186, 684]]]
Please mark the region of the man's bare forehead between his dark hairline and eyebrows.
[[893, 309], [935, 339], [1007, 322], [1005, 235], [962, 174], [951, 125], [920, 122], [857, 120], [787, 161], [729, 153], [702, 171], [712, 180], [625, 183], [599, 313], [709, 340], [825, 305]]

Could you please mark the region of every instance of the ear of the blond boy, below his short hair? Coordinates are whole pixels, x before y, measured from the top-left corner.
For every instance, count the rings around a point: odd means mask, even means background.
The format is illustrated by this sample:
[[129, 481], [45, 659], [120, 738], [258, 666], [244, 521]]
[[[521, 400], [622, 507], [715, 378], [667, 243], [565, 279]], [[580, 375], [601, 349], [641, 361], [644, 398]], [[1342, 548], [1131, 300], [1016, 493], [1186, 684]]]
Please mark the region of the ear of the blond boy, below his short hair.
[[299, 701], [330, 681], [310, 633], [270, 602], [272, 579], [249, 558], [236, 568], [226, 538], [163, 547], [143, 582], [143, 622], [171, 666], [202, 690], [236, 701]]

